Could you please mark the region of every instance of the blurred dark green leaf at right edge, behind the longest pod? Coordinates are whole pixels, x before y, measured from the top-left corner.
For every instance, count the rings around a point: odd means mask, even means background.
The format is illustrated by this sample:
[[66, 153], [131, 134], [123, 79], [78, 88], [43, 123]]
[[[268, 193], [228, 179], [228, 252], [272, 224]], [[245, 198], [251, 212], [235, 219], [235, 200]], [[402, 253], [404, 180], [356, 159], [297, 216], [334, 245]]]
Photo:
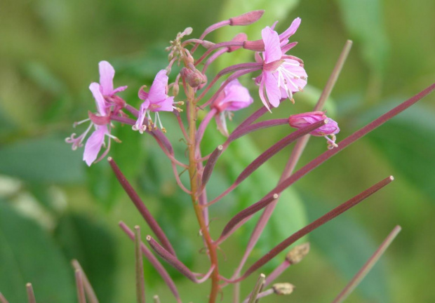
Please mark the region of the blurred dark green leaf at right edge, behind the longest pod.
[[[399, 101], [370, 110], [361, 117], [368, 123], [398, 105]], [[413, 105], [368, 136], [394, 169], [435, 201], [435, 112]]]

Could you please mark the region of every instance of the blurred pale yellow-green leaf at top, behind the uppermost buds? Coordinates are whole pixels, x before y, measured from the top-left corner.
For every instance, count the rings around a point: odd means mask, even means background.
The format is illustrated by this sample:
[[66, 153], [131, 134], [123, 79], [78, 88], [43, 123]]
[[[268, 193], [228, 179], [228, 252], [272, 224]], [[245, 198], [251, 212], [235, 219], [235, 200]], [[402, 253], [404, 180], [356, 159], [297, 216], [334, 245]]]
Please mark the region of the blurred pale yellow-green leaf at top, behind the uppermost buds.
[[[285, 18], [297, 4], [299, 0], [227, 0], [222, 7], [221, 20], [255, 10], [264, 10], [265, 14], [260, 20], [246, 27], [222, 27], [217, 32], [217, 42], [229, 41], [239, 32], [246, 33], [249, 40], [261, 39], [261, 30], [266, 26], [272, 26], [276, 20], [279, 20], [283, 27], [288, 27], [293, 19], [286, 20]], [[248, 61], [253, 61], [253, 52], [243, 49], [237, 50], [231, 56], [221, 56], [218, 60], [221, 69]]]

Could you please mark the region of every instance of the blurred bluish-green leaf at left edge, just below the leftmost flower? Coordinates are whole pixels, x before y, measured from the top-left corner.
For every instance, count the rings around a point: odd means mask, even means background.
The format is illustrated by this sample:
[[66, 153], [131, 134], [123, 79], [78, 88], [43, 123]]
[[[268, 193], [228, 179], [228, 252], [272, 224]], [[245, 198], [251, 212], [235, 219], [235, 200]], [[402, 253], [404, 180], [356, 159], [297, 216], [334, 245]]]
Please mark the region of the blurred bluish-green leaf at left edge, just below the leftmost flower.
[[45, 137], [1, 147], [0, 171], [37, 183], [73, 183], [83, 180], [83, 161], [64, 140]]

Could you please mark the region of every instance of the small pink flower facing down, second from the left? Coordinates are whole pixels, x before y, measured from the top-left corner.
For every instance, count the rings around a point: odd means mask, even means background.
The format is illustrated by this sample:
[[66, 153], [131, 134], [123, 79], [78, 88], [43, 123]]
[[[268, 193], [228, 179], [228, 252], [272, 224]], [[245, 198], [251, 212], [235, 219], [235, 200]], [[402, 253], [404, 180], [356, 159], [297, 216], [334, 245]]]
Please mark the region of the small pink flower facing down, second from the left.
[[173, 112], [174, 109], [180, 110], [173, 106], [174, 97], [168, 96], [168, 76], [166, 75], [166, 70], [162, 69], [156, 74], [156, 78], [149, 88], [149, 93], [143, 90], [144, 87], [142, 86], [138, 93], [140, 100], [144, 100], [144, 102], [140, 105], [138, 120], [133, 126], [133, 130], [139, 130], [140, 133], [143, 133], [147, 128], [149, 130], [153, 126], [156, 128], [149, 114], [149, 112], [155, 112], [155, 121], [159, 123], [161, 130], [166, 132], [166, 129], [161, 124], [159, 112]]

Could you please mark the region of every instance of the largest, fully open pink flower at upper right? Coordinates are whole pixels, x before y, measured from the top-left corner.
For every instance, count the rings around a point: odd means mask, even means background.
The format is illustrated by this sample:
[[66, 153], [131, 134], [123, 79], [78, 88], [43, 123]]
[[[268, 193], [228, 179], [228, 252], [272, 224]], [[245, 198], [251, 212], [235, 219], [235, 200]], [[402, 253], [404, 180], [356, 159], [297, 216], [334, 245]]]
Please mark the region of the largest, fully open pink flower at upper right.
[[278, 107], [280, 100], [287, 97], [294, 102], [293, 93], [302, 90], [307, 84], [302, 60], [285, 55], [292, 45], [288, 44], [288, 37], [294, 34], [299, 24], [300, 19], [297, 18], [281, 35], [272, 29], [274, 26], [262, 29], [265, 51], [262, 52], [262, 58], [256, 53], [255, 60], [262, 62], [263, 67], [255, 83], [260, 86], [260, 99], [267, 109], [269, 105]]

